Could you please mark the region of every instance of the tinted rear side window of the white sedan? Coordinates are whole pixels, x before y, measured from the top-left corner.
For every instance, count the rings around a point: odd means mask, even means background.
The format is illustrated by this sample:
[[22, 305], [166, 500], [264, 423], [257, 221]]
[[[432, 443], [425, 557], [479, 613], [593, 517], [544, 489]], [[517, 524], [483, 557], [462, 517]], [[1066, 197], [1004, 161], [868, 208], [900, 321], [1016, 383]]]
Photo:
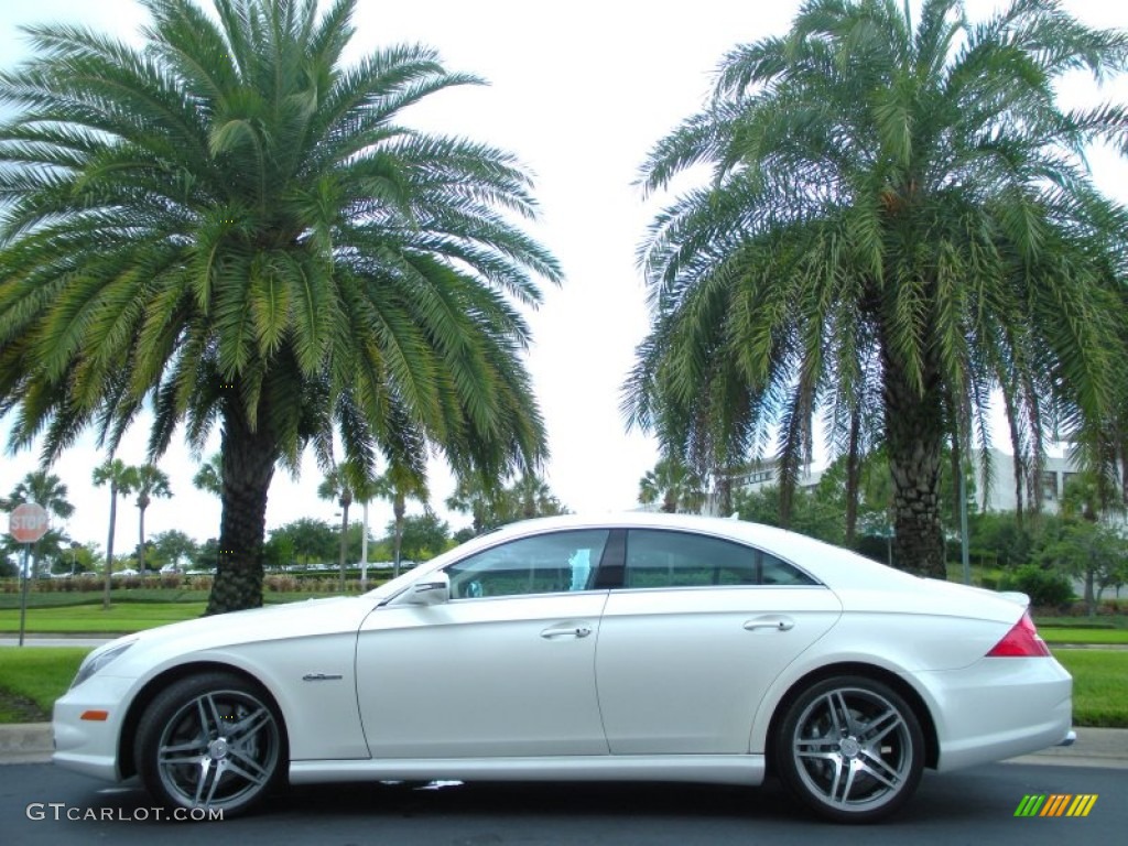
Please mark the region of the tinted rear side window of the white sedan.
[[742, 544], [651, 529], [627, 535], [627, 588], [814, 583], [787, 562]]

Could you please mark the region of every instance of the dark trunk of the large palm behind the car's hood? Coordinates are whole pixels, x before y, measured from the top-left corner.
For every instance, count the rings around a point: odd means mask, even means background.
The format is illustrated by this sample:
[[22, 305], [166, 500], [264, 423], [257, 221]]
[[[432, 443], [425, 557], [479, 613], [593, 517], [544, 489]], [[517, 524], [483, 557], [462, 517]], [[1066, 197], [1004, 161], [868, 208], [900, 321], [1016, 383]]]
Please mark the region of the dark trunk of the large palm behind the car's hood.
[[[265, 423], [252, 431], [238, 400], [229, 400], [223, 420], [223, 514], [219, 564], [206, 614], [226, 614], [263, 603], [263, 535], [266, 495], [277, 444]], [[259, 420], [265, 421], [259, 407]]]

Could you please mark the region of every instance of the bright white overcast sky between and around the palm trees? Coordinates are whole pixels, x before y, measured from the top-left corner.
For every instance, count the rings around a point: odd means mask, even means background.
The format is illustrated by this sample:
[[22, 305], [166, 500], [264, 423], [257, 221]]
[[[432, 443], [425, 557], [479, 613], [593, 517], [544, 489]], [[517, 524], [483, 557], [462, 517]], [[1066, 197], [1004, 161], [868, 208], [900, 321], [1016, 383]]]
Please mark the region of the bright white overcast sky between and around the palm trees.
[[[548, 429], [545, 476], [574, 511], [633, 508], [638, 479], [656, 458], [652, 439], [627, 434], [619, 415], [619, 390], [649, 326], [634, 252], [660, 208], [660, 200], [644, 203], [632, 186], [637, 167], [662, 135], [702, 106], [721, 56], [738, 43], [785, 33], [799, 6], [797, 0], [358, 3], [353, 55], [418, 42], [437, 47], [449, 70], [491, 83], [439, 95], [406, 113], [404, 123], [512, 150], [536, 177], [543, 217], [529, 231], [559, 258], [566, 281], [546, 289], [545, 305], [530, 318], [535, 346], [528, 365]], [[968, 2], [972, 17], [993, 6]], [[1065, 6], [1086, 24], [1128, 27], [1128, 3], [1067, 0]], [[80, 21], [131, 38], [142, 20], [133, 0], [0, 0], [0, 67], [26, 55], [17, 30], [23, 24]], [[1122, 80], [1112, 90], [1119, 102], [1128, 100]], [[1098, 95], [1085, 78], [1067, 96]], [[1110, 89], [1100, 96], [1110, 96]], [[1107, 192], [1128, 199], [1128, 166], [1094, 155], [1093, 167]], [[0, 421], [0, 447], [7, 431]], [[118, 457], [141, 464], [147, 434], [138, 426]], [[82, 543], [106, 539], [107, 493], [90, 483], [103, 458], [92, 437], [86, 438], [54, 468], [77, 509], [67, 529]], [[36, 466], [34, 451], [0, 453], [0, 493]], [[187, 450], [175, 443], [160, 466], [171, 478], [174, 499], [150, 505], [147, 536], [173, 528], [201, 540], [218, 535], [219, 502], [192, 486], [196, 462]], [[332, 521], [336, 506], [317, 499], [319, 481], [308, 455], [298, 482], [276, 473], [267, 527], [301, 517]], [[444, 468], [433, 466], [432, 504], [459, 528], [468, 518], [449, 514], [443, 505], [451, 487]], [[386, 503], [372, 504], [377, 535], [390, 518]], [[135, 526], [136, 511], [120, 509], [117, 548], [129, 548]]]

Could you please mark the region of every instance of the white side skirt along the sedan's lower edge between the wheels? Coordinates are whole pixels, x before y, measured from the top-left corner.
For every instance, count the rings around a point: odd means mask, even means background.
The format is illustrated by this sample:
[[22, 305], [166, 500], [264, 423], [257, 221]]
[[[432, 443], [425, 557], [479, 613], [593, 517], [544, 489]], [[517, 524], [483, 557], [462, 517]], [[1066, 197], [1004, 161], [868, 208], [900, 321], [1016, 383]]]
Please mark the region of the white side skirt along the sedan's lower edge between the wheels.
[[369, 781], [699, 782], [757, 785], [763, 755], [631, 755], [553, 758], [299, 760], [291, 784]]

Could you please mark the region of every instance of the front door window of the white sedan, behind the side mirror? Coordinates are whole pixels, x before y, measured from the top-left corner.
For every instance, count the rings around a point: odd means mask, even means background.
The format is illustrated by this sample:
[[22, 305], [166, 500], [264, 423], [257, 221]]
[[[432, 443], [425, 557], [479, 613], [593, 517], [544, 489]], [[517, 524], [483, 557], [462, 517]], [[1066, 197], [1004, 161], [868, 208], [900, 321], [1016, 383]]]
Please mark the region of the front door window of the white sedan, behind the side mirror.
[[451, 564], [451, 599], [588, 590], [607, 529], [561, 531], [501, 544]]

